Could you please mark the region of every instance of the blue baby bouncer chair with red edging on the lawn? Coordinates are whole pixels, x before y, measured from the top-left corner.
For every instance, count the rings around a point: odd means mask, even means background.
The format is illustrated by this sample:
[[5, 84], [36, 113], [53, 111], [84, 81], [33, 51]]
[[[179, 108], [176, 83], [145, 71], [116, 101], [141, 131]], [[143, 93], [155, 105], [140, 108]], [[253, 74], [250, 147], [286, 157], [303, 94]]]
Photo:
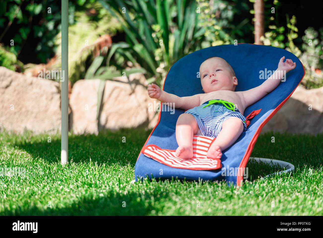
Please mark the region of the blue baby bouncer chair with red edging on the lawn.
[[[178, 147], [175, 126], [177, 118], [184, 113], [184, 110], [172, 109], [175, 110], [174, 114], [165, 110], [160, 111], [158, 123], [137, 158], [135, 181], [143, 178], [155, 178], [157, 181], [173, 178], [185, 181], [224, 180], [229, 186], [231, 184], [240, 186], [244, 178], [244, 174], [240, 171], [246, 167], [261, 129], [284, 105], [305, 75], [305, 69], [300, 60], [285, 49], [254, 44], [221, 45], [200, 49], [176, 61], [167, 73], [163, 90], [179, 97], [204, 93], [200, 78], [197, 78], [197, 72], [201, 63], [213, 56], [223, 58], [234, 69], [238, 79], [235, 91], [249, 90], [262, 84], [266, 79], [260, 79], [259, 71], [276, 70], [279, 59], [283, 56], [285, 56], [285, 60], [291, 59], [296, 62], [296, 68], [286, 74], [286, 81], [282, 81], [276, 89], [245, 109], [244, 116], [248, 120], [248, 131], [243, 132], [232, 146], [222, 151], [223, 155], [218, 169], [173, 168], [144, 155], [143, 149], [147, 145], [156, 145], [169, 150], [176, 150]], [[284, 172], [294, 169], [292, 164], [284, 161], [266, 158], [255, 159], [283, 166], [285, 167]], [[223, 173], [223, 168], [237, 168], [238, 172]]]

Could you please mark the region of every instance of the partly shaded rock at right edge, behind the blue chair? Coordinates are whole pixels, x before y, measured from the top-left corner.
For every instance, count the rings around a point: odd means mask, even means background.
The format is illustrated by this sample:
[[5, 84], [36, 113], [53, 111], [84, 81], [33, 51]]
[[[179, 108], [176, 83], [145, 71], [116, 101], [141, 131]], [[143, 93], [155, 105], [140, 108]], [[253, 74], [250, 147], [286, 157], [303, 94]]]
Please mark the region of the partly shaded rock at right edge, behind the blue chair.
[[260, 134], [268, 131], [307, 135], [323, 133], [322, 98], [323, 87], [307, 90], [298, 86]]

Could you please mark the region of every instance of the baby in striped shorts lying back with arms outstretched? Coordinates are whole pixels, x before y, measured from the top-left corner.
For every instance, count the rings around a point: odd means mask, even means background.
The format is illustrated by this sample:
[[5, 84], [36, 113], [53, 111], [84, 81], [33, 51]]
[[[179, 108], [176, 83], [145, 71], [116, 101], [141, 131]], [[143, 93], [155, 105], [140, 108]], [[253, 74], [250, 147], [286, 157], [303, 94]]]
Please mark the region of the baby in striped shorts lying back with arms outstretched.
[[[207, 157], [220, 159], [222, 151], [233, 145], [242, 132], [247, 131], [245, 108], [273, 91], [284, 75], [296, 67], [296, 63], [283, 56], [277, 70], [261, 85], [247, 91], [235, 92], [238, 85], [231, 65], [220, 57], [203, 61], [199, 72], [204, 93], [178, 97], [160, 89], [156, 84], [148, 85], [148, 94], [161, 103], [174, 103], [181, 108], [176, 123], [178, 148], [175, 155], [182, 159], [193, 157], [193, 135], [216, 138], [207, 151]], [[281, 73], [277, 73], [277, 72]]]

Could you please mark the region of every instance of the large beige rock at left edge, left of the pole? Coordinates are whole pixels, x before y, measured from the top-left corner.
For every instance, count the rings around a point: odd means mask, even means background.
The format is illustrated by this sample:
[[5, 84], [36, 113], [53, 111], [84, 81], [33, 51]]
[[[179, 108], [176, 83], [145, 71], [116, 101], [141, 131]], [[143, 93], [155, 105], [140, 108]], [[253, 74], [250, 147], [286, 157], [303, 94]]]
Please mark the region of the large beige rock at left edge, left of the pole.
[[0, 67], [0, 124], [14, 134], [61, 130], [59, 83]]

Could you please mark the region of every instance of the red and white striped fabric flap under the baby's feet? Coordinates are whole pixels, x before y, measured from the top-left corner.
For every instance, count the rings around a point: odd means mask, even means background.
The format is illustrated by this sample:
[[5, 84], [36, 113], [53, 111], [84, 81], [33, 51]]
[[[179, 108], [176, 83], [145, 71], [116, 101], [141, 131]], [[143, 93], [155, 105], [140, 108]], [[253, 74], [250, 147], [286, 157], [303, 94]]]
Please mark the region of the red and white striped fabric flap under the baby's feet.
[[159, 146], [152, 144], [144, 146], [141, 149], [141, 153], [172, 168], [193, 170], [218, 169], [221, 168], [221, 160], [206, 157], [207, 150], [214, 140], [215, 138], [209, 136], [193, 135], [192, 159], [181, 159], [175, 156], [176, 150], [162, 149]]

